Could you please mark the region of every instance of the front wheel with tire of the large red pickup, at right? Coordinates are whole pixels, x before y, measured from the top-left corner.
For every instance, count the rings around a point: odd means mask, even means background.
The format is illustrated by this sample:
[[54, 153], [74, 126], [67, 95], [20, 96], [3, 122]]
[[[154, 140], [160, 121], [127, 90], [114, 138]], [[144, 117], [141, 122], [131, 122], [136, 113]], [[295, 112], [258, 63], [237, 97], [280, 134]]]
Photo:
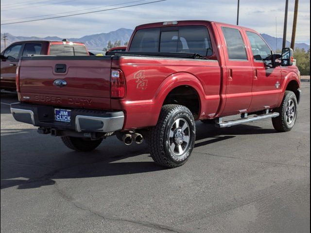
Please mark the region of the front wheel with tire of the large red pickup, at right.
[[276, 109], [280, 115], [272, 118], [272, 124], [278, 132], [288, 132], [293, 129], [297, 119], [298, 103], [292, 91], [285, 91], [282, 104]]

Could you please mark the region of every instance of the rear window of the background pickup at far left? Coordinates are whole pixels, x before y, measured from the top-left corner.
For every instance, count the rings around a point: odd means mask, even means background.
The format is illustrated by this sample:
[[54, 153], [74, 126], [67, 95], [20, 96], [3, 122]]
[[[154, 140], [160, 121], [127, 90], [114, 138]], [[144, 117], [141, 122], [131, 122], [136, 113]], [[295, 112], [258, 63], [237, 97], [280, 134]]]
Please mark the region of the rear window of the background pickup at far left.
[[50, 55], [56, 56], [86, 56], [86, 48], [83, 45], [51, 45]]

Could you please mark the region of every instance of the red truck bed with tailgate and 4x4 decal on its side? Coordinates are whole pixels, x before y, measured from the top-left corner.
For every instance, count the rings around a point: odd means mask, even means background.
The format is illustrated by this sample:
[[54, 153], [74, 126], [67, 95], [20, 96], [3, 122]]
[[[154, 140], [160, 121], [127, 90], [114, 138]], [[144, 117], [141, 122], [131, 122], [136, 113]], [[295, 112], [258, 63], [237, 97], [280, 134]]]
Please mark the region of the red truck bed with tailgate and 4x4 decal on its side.
[[[215, 115], [220, 103], [221, 87], [218, 61], [196, 59], [195, 54], [179, 54], [183, 57], [176, 55], [165, 57], [165, 53], [124, 53], [111, 56], [23, 57], [19, 63], [20, 100], [68, 109], [122, 110], [127, 117], [124, 127], [127, 124], [142, 127], [156, 123], [158, 108], [168, 94], [162, 92], [165, 87], [172, 86], [168, 82], [175, 77], [176, 82], [184, 80], [185, 85], [196, 85], [197, 91], [204, 96], [202, 101], [209, 102], [201, 106], [201, 111]], [[66, 65], [65, 73], [55, 72], [55, 66], [59, 64]], [[124, 98], [110, 98], [112, 68], [121, 69], [124, 73]], [[55, 80], [64, 80], [67, 85], [55, 86]]]

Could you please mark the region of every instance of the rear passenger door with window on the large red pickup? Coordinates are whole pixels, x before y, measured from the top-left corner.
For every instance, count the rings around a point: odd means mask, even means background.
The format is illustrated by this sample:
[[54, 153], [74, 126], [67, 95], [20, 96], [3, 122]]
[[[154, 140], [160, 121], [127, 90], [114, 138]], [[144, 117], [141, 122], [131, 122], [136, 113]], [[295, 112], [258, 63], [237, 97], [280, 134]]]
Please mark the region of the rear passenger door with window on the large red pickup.
[[225, 107], [222, 115], [246, 112], [252, 100], [253, 67], [240, 28], [219, 25], [225, 54]]

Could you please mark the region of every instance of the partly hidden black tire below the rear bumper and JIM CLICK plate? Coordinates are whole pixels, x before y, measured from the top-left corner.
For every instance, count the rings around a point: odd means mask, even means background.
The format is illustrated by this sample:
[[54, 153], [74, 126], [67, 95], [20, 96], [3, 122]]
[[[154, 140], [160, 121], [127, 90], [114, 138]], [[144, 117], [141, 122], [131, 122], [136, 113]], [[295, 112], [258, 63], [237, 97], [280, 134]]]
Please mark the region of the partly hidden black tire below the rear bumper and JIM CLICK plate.
[[103, 141], [103, 138], [97, 140], [90, 140], [88, 138], [70, 136], [63, 136], [61, 137], [61, 139], [65, 146], [67, 146], [69, 149], [85, 152], [96, 149]]

